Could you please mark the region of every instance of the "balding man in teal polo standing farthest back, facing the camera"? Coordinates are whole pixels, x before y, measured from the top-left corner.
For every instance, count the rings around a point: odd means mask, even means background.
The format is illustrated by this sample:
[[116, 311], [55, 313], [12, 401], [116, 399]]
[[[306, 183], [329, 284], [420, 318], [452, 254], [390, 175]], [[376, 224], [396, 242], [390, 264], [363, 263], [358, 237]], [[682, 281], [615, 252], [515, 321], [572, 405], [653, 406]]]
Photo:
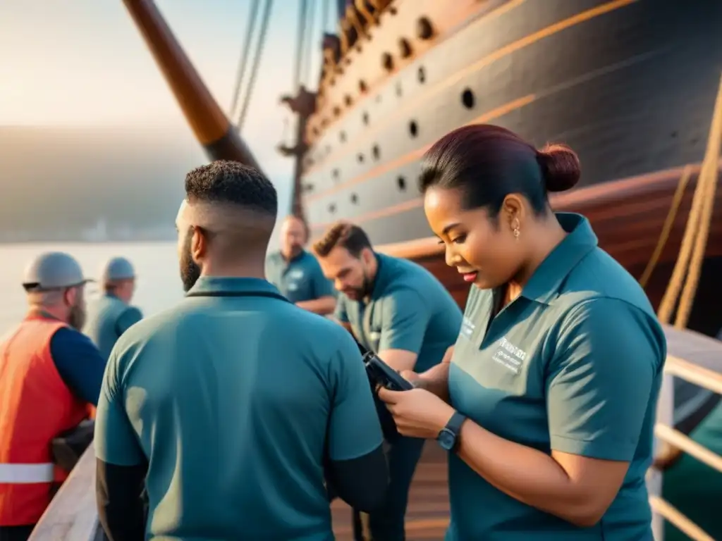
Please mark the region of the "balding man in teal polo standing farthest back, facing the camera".
[[266, 279], [290, 302], [318, 315], [334, 312], [336, 298], [318, 261], [303, 247], [308, 227], [297, 216], [286, 216], [281, 226], [281, 249], [266, 258]]

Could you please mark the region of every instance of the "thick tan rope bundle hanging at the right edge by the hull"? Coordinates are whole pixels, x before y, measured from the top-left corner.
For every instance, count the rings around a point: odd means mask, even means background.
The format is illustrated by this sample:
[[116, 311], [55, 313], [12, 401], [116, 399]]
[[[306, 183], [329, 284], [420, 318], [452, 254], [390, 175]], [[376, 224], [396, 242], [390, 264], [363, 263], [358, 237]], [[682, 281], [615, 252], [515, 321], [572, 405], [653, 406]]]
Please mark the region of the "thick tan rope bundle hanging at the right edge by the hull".
[[[705, 248], [709, 235], [710, 222], [715, 203], [715, 191], [719, 176], [720, 151], [722, 147], [722, 79], [715, 102], [715, 109], [710, 126], [705, 158], [697, 176], [695, 195], [692, 198], [692, 209], [687, 219], [682, 237], [682, 246], [674, 265], [671, 280], [664, 292], [664, 297], [657, 312], [661, 322], [671, 319], [674, 306], [677, 304], [679, 291], [679, 307], [674, 326], [684, 328], [690, 319], [692, 303], [697, 293], [700, 273], [705, 258]], [[689, 268], [689, 271], [687, 269]], [[686, 279], [685, 279], [686, 278]]]

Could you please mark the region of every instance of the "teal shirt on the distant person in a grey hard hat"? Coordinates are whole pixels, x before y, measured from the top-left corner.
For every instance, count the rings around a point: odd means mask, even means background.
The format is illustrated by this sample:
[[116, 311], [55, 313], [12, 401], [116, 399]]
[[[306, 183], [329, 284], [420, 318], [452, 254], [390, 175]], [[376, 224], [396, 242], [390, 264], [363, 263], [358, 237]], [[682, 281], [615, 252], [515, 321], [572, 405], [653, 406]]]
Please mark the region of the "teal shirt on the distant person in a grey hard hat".
[[83, 333], [90, 337], [107, 361], [116, 340], [142, 317], [139, 309], [106, 293], [88, 305]]

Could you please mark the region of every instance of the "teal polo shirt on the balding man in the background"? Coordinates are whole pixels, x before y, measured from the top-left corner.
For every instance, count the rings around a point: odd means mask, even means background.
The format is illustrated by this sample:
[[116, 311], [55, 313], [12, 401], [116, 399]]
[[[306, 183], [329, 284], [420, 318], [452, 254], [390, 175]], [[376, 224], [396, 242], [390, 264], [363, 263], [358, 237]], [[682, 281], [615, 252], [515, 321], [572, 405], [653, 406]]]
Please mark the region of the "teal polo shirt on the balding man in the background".
[[314, 301], [334, 296], [334, 286], [326, 280], [318, 260], [305, 250], [290, 261], [274, 252], [266, 258], [266, 278], [290, 302]]

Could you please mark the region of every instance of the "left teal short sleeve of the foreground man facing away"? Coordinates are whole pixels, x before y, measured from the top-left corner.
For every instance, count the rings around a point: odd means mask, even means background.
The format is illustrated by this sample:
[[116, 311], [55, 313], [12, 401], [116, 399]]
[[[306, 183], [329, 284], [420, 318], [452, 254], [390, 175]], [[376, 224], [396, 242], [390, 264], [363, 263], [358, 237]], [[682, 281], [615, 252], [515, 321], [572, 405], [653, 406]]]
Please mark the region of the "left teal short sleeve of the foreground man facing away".
[[125, 393], [118, 375], [122, 364], [122, 353], [113, 349], [95, 413], [95, 455], [108, 464], [136, 466], [144, 463], [145, 456], [126, 413]]

